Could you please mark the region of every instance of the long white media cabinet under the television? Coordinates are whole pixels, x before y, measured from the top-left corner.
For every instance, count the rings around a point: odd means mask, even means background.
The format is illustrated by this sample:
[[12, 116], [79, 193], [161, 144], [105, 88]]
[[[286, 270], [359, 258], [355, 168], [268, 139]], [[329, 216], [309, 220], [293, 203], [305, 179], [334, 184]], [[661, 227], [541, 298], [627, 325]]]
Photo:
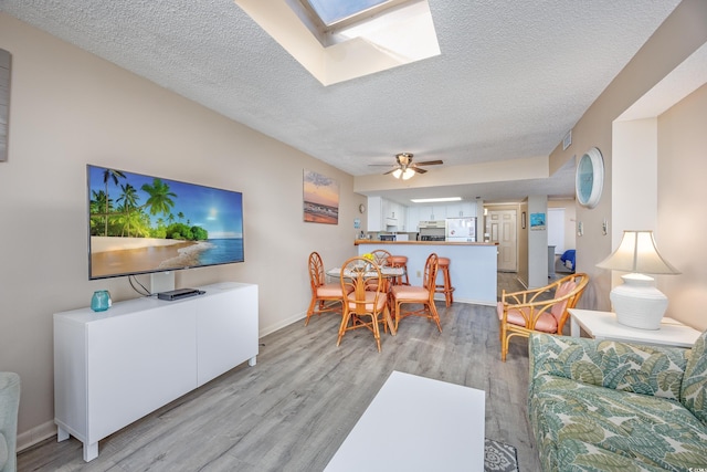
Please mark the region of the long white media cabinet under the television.
[[54, 422], [86, 462], [98, 441], [258, 352], [257, 285], [219, 283], [178, 301], [137, 298], [54, 314]]

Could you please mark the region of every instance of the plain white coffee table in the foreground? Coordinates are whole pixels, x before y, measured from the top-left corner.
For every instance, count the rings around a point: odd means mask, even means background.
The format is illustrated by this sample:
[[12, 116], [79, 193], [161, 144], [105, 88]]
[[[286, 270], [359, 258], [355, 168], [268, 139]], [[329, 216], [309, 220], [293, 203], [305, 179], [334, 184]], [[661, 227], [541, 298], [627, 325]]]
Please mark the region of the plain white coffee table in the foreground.
[[326, 472], [484, 471], [486, 394], [393, 371]]

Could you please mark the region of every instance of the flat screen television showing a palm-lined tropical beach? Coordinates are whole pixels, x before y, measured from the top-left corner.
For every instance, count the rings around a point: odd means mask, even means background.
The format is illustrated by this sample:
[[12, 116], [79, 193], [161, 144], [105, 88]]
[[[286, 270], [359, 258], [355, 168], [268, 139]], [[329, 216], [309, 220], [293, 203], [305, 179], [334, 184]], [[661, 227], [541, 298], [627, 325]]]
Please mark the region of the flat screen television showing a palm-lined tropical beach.
[[243, 195], [86, 166], [88, 279], [243, 262]]

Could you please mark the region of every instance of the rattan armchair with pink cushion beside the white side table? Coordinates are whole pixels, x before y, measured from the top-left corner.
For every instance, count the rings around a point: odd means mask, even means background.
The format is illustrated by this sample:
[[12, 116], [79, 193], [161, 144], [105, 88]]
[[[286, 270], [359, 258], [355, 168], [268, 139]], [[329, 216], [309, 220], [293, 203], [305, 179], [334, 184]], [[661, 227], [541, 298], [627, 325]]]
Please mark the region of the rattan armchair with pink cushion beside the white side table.
[[562, 335], [569, 310], [577, 306], [589, 275], [570, 274], [539, 289], [506, 293], [496, 306], [500, 323], [500, 360], [506, 361], [508, 343], [514, 336], [529, 337], [530, 333]]

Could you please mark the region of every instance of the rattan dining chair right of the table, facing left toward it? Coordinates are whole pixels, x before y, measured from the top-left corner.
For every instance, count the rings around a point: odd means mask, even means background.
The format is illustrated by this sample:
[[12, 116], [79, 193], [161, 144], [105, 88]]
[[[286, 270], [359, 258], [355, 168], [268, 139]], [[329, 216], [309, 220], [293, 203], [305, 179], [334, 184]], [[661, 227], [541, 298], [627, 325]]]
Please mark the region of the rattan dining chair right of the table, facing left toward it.
[[[439, 258], [434, 252], [428, 256], [424, 264], [422, 286], [393, 285], [391, 289], [392, 305], [395, 307], [395, 331], [400, 319], [407, 316], [424, 316], [434, 321], [442, 333], [440, 315], [434, 305], [434, 289], [437, 279]], [[403, 305], [422, 305], [416, 310], [403, 310]]]

